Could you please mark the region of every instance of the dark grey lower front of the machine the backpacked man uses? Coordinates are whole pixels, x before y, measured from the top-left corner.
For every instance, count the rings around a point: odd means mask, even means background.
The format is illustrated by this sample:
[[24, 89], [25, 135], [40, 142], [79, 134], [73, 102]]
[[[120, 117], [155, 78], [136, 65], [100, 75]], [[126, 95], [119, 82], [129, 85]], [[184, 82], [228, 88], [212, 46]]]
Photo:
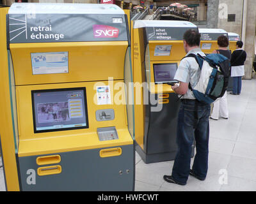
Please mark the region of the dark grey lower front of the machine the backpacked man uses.
[[[157, 105], [161, 104], [161, 112], [149, 112], [148, 135], [145, 138], [145, 152], [158, 154], [161, 152], [176, 152], [177, 115], [180, 100], [177, 94], [154, 94]], [[156, 137], [157, 135], [157, 137]], [[146, 145], [147, 144], [147, 145]], [[174, 159], [174, 157], [172, 158]]]

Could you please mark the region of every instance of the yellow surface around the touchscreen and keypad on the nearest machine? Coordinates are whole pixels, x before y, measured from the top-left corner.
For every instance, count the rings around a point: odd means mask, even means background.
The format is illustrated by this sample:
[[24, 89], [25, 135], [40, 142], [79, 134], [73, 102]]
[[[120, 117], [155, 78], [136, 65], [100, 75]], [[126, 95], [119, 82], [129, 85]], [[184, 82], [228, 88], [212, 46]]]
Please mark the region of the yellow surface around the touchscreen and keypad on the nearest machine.
[[[113, 81], [112, 81], [113, 82]], [[125, 96], [124, 87], [120, 90], [114, 89], [115, 85], [122, 81], [114, 81], [110, 91], [112, 98], [122, 92]], [[108, 84], [106, 84], [108, 85]], [[88, 123], [87, 129], [76, 129], [70, 131], [56, 131], [49, 133], [34, 133], [33, 112], [31, 103], [32, 90], [63, 89], [86, 87]], [[124, 97], [123, 97], [124, 98]], [[122, 100], [122, 98], [120, 98]], [[19, 156], [33, 156], [37, 154], [52, 154], [54, 152], [69, 152], [84, 149], [96, 149], [99, 147], [112, 147], [113, 145], [129, 145], [133, 143], [129, 131], [127, 130], [126, 108], [122, 105], [97, 105], [97, 91], [95, 82], [83, 82], [72, 84], [49, 84], [49, 85], [26, 85], [17, 87], [17, 110], [19, 124]], [[124, 103], [124, 101], [120, 101]], [[113, 108], [115, 111], [114, 120], [97, 121], [95, 112]], [[26, 120], [22, 120], [26, 118]], [[109, 127], [115, 124], [120, 140], [109, 140], [104, 143], [99, 141], [97, 128]]]

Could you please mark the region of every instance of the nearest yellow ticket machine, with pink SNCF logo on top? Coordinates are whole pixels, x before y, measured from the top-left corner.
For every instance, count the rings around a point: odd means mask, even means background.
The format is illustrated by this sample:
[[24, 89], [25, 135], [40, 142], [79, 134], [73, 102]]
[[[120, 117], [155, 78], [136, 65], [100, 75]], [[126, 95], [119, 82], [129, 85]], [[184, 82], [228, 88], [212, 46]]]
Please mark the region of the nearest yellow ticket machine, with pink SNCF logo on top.
[[134, 190], [124, 11], [113, 4], [14, 3], [6, 21], [8, 76], [1, 80], [10, 104], [1, 106], [11, 108], [12, 135], [1, 131], [1, 141], [4, 163], [15, 155], [11, 176], [19, 181], [6, 177], [7, 189]]

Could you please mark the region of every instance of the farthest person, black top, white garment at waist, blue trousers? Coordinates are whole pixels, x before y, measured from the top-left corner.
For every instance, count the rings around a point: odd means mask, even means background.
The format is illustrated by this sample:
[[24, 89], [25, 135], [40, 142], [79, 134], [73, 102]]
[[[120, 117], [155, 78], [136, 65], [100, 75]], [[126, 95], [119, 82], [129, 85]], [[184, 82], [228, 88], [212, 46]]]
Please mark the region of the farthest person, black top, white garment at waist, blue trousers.
[[243, 42], [236, 42], [236, 50], [231, 55], [231, 77], [233, 78], [233, 91], [230, 94], [239, 95], [242, 89], [242, 77], [244, 76], [244, 62], [246, 52], [242, 49]]

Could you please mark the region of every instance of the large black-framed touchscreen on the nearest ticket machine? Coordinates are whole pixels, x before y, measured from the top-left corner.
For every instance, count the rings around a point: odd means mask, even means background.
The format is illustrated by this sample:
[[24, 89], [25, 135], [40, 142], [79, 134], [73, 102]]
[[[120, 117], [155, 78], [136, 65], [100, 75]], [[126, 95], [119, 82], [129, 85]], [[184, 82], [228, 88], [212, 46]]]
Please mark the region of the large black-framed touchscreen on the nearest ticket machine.
[[86, 89], [31, 91], [34, 132], [88, 128]]

